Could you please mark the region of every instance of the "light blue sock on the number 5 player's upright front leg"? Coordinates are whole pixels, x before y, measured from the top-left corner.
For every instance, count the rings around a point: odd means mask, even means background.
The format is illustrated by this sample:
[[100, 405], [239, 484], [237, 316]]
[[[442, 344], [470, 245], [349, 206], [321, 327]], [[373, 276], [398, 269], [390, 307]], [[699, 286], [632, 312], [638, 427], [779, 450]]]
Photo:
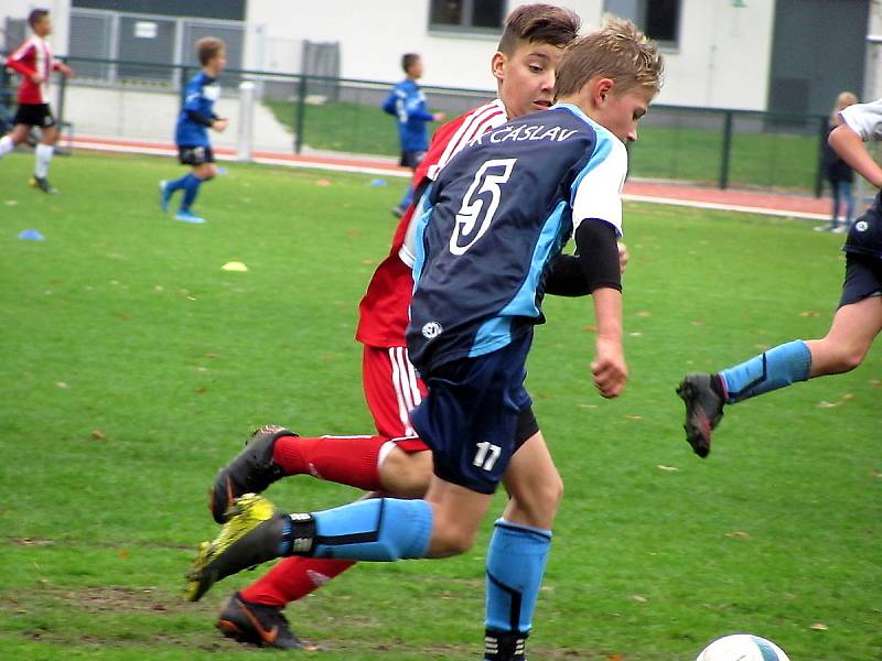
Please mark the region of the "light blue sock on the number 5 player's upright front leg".
[[550, 548], [550, 530], [496, 521], [487, 551], [487, 629], [530, 630]]

